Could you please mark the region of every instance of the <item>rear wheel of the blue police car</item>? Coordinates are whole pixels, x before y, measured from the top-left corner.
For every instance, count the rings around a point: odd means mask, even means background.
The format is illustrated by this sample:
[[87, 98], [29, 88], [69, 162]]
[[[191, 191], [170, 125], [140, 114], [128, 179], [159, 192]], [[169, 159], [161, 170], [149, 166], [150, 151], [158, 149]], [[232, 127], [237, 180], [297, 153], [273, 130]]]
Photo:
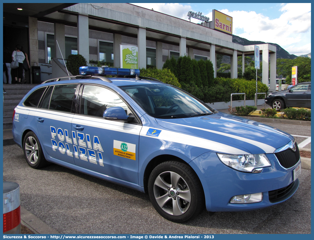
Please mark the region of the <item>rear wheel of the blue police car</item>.
[[40, 142], [34, 132], [28, 132], [23, 140], [23, 151], [26, 162], [32, 168], [41, 168], [48, 165]]

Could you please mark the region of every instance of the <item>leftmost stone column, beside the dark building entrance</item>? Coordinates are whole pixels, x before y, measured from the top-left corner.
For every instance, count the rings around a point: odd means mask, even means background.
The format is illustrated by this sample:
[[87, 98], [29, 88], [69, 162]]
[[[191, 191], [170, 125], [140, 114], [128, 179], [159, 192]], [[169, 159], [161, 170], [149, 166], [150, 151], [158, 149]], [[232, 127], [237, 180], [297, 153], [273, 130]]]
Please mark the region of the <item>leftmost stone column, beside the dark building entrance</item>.
[[[30, 66], [38, 66], [38, 21], [37, 18], [28, 17], [29, 37], [30, 37]], [[46, 50], [45, 50], [46, 51]], [[30, 75], [30, 83], [33, 83], [32, 75]]]

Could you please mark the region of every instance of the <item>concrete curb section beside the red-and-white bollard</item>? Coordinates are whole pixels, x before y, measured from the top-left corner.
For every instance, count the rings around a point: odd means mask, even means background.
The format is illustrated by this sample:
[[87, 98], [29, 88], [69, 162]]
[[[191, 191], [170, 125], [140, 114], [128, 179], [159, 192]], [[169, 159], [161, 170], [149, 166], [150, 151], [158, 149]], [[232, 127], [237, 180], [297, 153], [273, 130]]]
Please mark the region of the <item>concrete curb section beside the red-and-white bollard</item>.
[[21, 224], [28, 227], [35, 234], [59, 234], [56, 230], [41, 221], [38, 217], [21, 206]]

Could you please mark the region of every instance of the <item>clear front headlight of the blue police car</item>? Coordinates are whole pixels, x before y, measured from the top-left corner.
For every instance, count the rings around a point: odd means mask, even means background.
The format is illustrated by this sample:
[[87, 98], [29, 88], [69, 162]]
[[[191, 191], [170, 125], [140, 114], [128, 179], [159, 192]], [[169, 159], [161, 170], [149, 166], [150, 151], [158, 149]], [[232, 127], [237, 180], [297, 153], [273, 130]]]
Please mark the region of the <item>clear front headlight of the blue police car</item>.
[[[262, 167], [271, 166], [265, 154], [231, 155], [217, 153], [220, 161], [242, 172], [261, 172]], [[256, 169], [256, 171], [254, 171]]]

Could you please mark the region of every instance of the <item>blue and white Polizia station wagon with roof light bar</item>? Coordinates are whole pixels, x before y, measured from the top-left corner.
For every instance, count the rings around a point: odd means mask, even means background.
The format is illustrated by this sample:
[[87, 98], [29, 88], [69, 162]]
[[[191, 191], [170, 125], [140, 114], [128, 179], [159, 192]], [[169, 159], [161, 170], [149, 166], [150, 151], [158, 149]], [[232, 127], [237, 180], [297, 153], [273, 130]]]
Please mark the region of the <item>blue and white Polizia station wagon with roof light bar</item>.
[[[81, 67], [34, 87], [13, 115], [33, 168], [56, 163], [143, 193], [168, 220], [255, 210], [299, 186], [295, 139], [218, 112], [138, 69]], [[106, 77], [114, 75], [115, 77]]]

